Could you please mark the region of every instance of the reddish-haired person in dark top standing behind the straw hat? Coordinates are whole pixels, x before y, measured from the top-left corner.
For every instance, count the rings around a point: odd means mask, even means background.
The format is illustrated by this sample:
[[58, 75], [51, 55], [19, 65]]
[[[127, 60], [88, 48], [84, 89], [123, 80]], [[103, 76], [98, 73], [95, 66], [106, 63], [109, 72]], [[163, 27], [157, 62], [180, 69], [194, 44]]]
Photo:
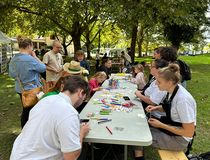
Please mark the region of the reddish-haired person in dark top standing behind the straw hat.
[[90, 65], [85, 59], [85, 53], [83, 50], [76, 51], [75, 61], [80, 62], [80, 66], [90, 72]]

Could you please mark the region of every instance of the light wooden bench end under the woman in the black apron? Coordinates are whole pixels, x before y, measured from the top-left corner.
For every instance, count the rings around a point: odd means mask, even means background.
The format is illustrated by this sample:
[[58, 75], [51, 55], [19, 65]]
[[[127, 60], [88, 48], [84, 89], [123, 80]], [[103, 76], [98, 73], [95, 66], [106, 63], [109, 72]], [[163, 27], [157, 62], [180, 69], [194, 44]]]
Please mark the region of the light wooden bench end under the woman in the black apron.
[[188, 160], [183, 151], [158, 150], [161, 160]]

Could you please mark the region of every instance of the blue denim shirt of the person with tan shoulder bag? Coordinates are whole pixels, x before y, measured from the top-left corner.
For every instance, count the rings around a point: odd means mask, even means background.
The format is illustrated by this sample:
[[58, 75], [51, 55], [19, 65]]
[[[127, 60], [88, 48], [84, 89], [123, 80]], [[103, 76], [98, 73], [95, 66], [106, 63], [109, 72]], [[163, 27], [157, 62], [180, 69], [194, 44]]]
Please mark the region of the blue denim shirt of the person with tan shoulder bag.
[[16, 54], [9, 63], [9, 75], [15, 78], [15, 90], [17, 93], [22, 93], [22, 87], [24, 90], [40, 87], [39, 73], [45, 71], [45, 64], [28, 54]]

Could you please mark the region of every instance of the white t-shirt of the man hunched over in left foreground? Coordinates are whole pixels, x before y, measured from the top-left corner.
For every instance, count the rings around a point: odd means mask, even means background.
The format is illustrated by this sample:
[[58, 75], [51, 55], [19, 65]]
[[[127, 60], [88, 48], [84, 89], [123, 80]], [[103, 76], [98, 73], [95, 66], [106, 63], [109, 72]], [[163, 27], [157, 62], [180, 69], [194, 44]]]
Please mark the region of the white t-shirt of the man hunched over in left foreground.
[[43, 98], [14, 142], [10, 160], [63, 160], [63, 153], [81, 149], [80, 122], [63, 93]]

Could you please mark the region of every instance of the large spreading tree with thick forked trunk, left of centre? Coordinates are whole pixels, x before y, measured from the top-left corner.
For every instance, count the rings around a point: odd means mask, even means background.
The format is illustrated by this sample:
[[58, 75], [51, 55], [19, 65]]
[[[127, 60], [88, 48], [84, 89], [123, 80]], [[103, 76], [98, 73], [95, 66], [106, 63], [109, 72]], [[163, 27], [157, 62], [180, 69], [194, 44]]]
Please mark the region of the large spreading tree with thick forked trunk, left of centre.
[[[31, 20], [33, 29], [40, 33], [46, 31], [65, 32], [74, 43], [74, 50], [81, 49], [81, 35], [87, 25], [97, 21], [101, 8], [107, 5], [105, 0], [65, 0], [65, 1], [2, 1], [0, 8], [5, 12], [15, 11], [25, 13], [24, 18]], [[13, 16], [17, 18], [17, 15]]]

